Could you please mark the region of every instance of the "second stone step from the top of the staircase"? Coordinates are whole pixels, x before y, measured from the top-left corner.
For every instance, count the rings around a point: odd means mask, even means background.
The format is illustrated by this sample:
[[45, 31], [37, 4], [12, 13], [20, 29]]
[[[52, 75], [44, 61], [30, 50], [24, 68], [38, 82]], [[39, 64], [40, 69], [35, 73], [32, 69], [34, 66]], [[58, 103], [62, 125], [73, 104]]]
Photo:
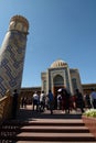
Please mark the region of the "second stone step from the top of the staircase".
[[54, 132], [54, 133], [88, 133], [86, 127], [53, 127], [53, 125], [28, 125], [22, 128], [3, 128], [2, 132]]

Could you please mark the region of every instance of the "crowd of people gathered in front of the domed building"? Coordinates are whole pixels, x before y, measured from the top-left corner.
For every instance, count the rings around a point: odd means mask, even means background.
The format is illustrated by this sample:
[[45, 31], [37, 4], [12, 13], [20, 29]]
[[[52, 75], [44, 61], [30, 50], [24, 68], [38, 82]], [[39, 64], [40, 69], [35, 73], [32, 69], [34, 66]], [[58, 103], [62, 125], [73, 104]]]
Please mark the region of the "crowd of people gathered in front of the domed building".
[[[26, 99], [22, 98], [22, 106], [26, 106]], [[86, 108], [96, 109], [96, 91], [92, 89], [92, 94], [83, 94], [79, 89], [75, 90], [75, 95], [72, 96], [66, 88], [58, 89], [57, 95], [54, 96], [51, 90], [45, 95], [44, 91], [41, 91], [39, 95], [38, 91], [33, 94], [32, 97], [33, 111], [44, 111], [50, 110], [53, 114], [53, 110], [62, 110], [62, 113], [70, 113], [72, 110], [81, 110], [83, 113]]]

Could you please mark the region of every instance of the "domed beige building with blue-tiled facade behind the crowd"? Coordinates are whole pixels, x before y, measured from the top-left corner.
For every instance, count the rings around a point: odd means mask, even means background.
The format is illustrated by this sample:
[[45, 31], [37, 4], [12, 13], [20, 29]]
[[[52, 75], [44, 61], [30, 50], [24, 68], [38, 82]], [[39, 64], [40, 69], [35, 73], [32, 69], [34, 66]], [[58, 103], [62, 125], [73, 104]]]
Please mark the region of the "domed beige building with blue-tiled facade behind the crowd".
[[83, 92], [78, 69], [70, 68], [68, 64], [62, 59], [53, 62], [46, 72], [41, 73], [41, 79], [42, 90], [45, 94], [51, 89], [56, 96], [60, 88], [66, 88], [72, 95], [75, 94], [77, 88]]

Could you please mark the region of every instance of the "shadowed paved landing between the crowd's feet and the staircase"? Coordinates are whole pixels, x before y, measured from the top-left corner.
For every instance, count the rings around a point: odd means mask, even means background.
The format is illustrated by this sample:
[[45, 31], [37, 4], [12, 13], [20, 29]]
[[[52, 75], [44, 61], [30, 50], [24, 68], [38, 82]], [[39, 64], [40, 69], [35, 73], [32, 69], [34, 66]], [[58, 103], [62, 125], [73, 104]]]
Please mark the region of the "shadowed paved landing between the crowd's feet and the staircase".
[[61, 110], [54, 110], [53, 114], [51, 114], [50, 110], [45, 110], [44, 112], [36, 112], [32, 110], [32, 106], [26, 106], [26, 108], [20, 108], [19, 113], [17, 116], [18, 120], [32, 120], [36, 119], [81, 119], [82, 113], [78, 110], [71, 111], [71, 113], [62, 113]]

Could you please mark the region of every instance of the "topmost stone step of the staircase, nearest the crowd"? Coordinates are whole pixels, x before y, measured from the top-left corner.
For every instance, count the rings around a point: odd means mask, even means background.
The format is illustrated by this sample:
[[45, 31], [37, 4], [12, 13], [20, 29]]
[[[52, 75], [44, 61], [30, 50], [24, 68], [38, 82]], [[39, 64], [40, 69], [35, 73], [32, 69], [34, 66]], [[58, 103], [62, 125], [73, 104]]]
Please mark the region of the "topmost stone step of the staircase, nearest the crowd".
[[81, 125], [85, 125], [84, 122], [81, 119], [67, 119], [67, 120], [52, 120], [52, 119], [35, 119], [32, 121], [7, 121], [6, 123], [3, 123], [3, 125], [70, 125], [70, 127], [81, 127]]

